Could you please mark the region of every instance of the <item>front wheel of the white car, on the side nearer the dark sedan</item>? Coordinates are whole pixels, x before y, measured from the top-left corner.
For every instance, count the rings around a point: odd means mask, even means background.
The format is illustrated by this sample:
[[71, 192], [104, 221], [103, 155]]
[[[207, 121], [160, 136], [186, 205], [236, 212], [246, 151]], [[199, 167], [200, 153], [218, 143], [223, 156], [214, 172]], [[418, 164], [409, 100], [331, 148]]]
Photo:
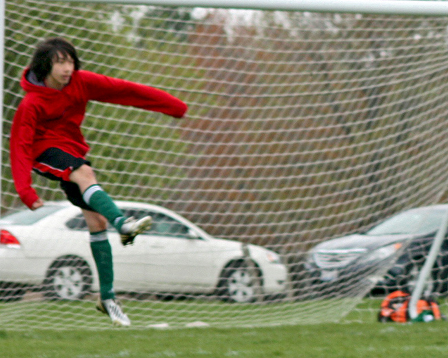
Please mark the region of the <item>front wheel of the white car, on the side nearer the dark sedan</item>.
[[263, 297], [262, 285], [261, 272], [253, 262], [234, 261], [221, 273], [218, 295], [225, 302], [256, 302]]

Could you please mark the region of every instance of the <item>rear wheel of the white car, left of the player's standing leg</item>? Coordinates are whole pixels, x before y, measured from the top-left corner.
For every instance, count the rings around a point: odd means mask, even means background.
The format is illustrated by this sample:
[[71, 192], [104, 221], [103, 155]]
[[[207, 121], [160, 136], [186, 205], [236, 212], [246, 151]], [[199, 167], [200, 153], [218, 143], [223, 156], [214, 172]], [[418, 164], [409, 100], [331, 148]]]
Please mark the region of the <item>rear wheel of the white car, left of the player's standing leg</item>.
[[43, 295], [48, 299], [83, 299], [92, 289], [92, 271], [87, 262], [76, 256], [55, 260], [43, 282]]

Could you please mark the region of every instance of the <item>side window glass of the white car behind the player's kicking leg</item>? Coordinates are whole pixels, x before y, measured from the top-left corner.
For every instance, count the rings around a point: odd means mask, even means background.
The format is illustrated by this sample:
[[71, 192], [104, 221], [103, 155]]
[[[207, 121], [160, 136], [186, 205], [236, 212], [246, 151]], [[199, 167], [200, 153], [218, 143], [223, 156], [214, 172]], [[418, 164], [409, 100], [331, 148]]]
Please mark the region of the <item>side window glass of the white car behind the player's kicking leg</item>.
[[[152, 217], [152, 225], [149, 230], [145, 231], [145, 233], [148, 235], [172, 236], [174, 238], [189, 238], [188, 227], [163, 213], [154, 213], [139, 209], [123, 209], [123, 213], [127, 217], [133, 216], [136, 219], [140, 219], [143, 218], [143, 216], [150, 215]], [[65, 222], [65, 225], [72, 230], [88, 229], [82, 213]], [[114, 228], [109, 226], [108, 230], [113, 231]]]

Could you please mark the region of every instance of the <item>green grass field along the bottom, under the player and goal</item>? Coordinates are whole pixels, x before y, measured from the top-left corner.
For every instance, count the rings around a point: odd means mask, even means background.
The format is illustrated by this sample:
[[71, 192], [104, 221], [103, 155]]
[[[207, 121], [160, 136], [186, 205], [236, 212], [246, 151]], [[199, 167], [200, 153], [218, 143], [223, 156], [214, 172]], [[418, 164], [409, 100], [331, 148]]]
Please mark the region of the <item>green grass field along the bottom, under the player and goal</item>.
[[[108, 317], [92, 314], [91, 325], [65, 329], [69, 315], [61, 315], [62, 309], [72, 308], [65, 302], [48, 304], [59, 325], [43, 328], [37, 319], [37, 310], [45, 303], [26, 308], [27, 304], [0, 305], [0, 357], [1, 358], [151, 358], [151, 357], [284, 357], [284, 358], [378, 358], [378, 357], [445, 357], [448, 352], [448, 322], [414, 324], [380, 324], [375, 319], [378, 299], [365, 299], [345, 317], [340, 324], [301, 324], [267, 326], [261, 328], [114, 328]], [[156, 303], [154, 303], [156, 304]], [[183, 303], [185, 317], [188, 310]], [[179, 303], [165, 306], [173, 308]], [[174, 305], [174, 306], [173, 306]], [[71, 310], [91, 306], [81, 302]], [[446, 303], [443, 304], [444, 308]], [[69, 307], [69, 308], [67, 308]], [[153, 306], [154, 307], [154, 306]], [[214, 310], [219, 306], [212, 306]], [[226, 306], [223, 306], [226, 307]], [[238, 306], [232, 306], [238, 309]], [[247, 309], [248, 306], [246, 306]], [[11, 309], [14, 308], [14, 309]], [[32, 309], [30, 309], [32, 308]], [[132, 308], [132, 306], [130, 307]], [[205, 308], [203, 306], [202, 308]], [[223, 308], [221, 308], [223, 309]], [[241, 307], [241, 309], [243, 309]], [[281, 314], [278, 306], [265, 306]], [[34, 315], [30, 315], [30, 311]], [[83, 311], [85, 312], [85, 310]], [[180, 312], [175, 313], [179, 319]], [[36, 315], [37, 314], [37, 315]], [[191, 312], [190, 312], [191, 314]], [[51, 317], [51, 316], [47, 316]], [[79, 316], [78, 316], [79, 317]], [[85, 317], [85, 316], [84, 316]], [[287, 315], [285, 315], [286, 319]], [[73, 318], [73, 317], [72, 317]], [[48, 318], [49, 319], [49, 318]], [[84, 318], [85, 319], [85, 318]], [[13, 322], [25, 322], [20, 330], [5, 326]], [[354, 323], [356, 322], [356, 323]], [[2, 329], [3, 323], [3, 329]], [[99, 324], [99, 326], [98, 326]], [[37, 328], [37, 326], [42, 328]], [[25, 327], [25, 328], [23, 328]], [[58, 330], [55, 327], [64, 329]], [[95, 328], [99, 327], [99, 328]]]

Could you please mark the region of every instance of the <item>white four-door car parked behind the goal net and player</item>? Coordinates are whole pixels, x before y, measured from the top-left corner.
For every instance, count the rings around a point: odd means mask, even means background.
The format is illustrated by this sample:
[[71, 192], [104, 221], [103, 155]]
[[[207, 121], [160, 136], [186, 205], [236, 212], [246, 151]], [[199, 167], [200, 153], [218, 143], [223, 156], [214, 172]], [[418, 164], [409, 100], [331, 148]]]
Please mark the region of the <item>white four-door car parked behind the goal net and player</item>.
[[[163, 207], [116, 202], [126, 215], [151, 215], [149, 231], [122, 246], [109, 241], [117, 292], [216, 294], [232, 302], [283, 293], [287, 269], [261, 246], [212, 238]], [[99, 290], [89, 234], [79, 208], [46, 202], [0, 220], [0, 299], [19, 299], [27, 289], [51, 299], [81, 299]]]

